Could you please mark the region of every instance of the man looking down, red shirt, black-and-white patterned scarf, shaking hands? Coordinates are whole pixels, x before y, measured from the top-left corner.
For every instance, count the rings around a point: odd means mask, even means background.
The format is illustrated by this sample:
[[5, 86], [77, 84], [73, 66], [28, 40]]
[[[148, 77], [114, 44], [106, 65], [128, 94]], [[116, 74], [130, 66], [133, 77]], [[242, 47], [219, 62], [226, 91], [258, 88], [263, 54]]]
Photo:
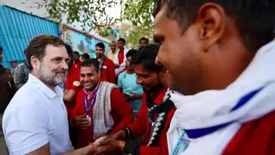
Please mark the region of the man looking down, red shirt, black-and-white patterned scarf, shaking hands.
[[[166, 132], [175, 107], [169, 100], [165, 84], [166, 70], [155, 64], [158, 50], [159, 45], [148, 45], [132, 56], [131, 63], [137, 74], [137, 84], [142, 85], [145, 92], [142, 107], [133, 123], [98, 144], [104, 146], [101, 152], [122, 149], [123, 152], [133, 155], [168, 155]], [[137, 145], [128, 141], [142, 134], [146, 136], [146, 144]]]

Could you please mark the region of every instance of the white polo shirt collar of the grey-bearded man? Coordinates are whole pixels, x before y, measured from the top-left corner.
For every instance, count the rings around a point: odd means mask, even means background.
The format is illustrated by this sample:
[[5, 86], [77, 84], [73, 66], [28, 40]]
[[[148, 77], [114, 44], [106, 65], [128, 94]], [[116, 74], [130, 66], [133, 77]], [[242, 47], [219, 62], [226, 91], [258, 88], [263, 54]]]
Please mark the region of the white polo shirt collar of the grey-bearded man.
[[48, 96], [50, 99], [54, 99], [54, 97], [56, 97], [56, 96], [63, 99], [63, 91], [62, 91], [61, 87], [59, 87], [59, 86], [56, 86], [54, 88], [54, 90], [55, 90], [55, 92], [54, 92], [53, 90], [50, 89], [50, 87], [47, 87], [47, 85], [45, 85], [45, 83], [40, 81], [36, 76], [33, 76], [32, 74], [29, 74], [28, 82], [31, 83], [32, 85], [36, 85], [36, 87], [39, 87], [41, 92], [43, 92], [43, 94]]

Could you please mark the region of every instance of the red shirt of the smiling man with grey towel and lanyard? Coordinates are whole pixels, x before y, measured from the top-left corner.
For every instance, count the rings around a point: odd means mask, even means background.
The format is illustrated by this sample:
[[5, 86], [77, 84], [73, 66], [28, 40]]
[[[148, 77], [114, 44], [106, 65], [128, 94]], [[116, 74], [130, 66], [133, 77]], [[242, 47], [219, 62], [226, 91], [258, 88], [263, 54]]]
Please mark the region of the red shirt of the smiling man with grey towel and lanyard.
[[[74, 110], [72, 112], [72, 118], [86, 114], [85, 105], [83, 102], [85, 96], [84, 90], [80, 90], [76, 97], [76, 105], [74, 106]], [[87, 101], [87, 104], [91, 103], [91, 96], [90, 99]], [[113, 88], [111, 91], [111, 116], [113, 118], [113, 131], [110, 134], [114, 134], [123, 130], [126, 125], [133, 121], [133, 110], [129, 103], [126, 103], [124, 100], [124, 96], [118, 90], [118, 88]], [[93, 109], [89, 111], [89, 116], [93, 116]], [[91, 120], [93, 122], [93, 120]], [[71, 119], [72, 122], [72, 119]], [[78, 148], [85, 147], [88, 145], [89, 142], [94, 141], [94, 126], [93, 123], [87, 129], [83, 130], [80, 129], [78, 131]]]

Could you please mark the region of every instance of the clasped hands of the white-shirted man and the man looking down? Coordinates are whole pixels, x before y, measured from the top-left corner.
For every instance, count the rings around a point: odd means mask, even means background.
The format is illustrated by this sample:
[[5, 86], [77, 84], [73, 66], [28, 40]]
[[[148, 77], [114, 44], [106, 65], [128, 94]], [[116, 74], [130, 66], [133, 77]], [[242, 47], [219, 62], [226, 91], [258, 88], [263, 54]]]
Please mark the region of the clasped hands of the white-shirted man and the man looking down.
[[122, 150], [124, 148], [125, 142], [120, 141], [120, 139], [124, 138], [124, 132], [120, 131], [113, 135], [104, 135], [101, 137], [97, 137], [96, 141], [92, 145], [93, 155], [98, 154], [122, 154]]

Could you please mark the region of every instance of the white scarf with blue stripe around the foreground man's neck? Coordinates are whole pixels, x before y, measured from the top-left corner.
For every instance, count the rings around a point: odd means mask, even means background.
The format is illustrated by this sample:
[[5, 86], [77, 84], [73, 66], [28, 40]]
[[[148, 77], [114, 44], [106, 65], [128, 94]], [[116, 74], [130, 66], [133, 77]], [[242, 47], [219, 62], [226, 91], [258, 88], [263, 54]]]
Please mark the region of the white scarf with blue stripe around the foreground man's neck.
[[167, 133], [169, 154], [182, 131], [177, 154], [221, 154], [243, 123], [275, 110], [275, 42], [263, 46], [225, 90], [170, 94], [177, 110]]

